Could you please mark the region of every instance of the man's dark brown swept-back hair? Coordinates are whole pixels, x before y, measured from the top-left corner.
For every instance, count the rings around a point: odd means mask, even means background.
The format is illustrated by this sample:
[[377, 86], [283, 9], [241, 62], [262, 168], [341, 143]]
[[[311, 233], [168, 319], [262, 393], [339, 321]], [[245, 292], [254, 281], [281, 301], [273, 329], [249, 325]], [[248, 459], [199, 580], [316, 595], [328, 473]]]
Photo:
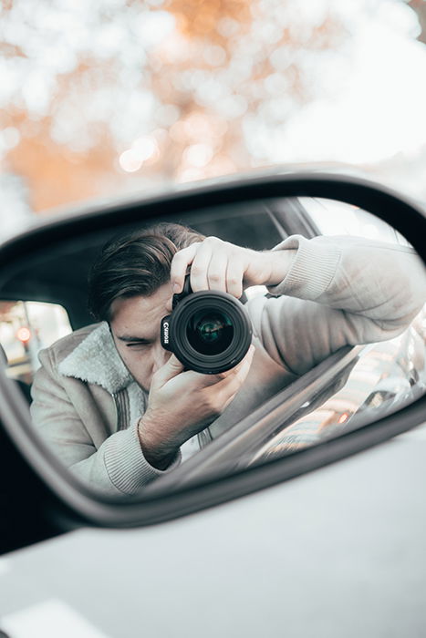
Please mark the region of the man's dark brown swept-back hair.
[[204, 236], [176, 223], [161, 222], [105, 244], [88, 275], [88, 310], [97, 321], [110, 321], [119, 297], [150, 296], [170, 280], [176, 252]]

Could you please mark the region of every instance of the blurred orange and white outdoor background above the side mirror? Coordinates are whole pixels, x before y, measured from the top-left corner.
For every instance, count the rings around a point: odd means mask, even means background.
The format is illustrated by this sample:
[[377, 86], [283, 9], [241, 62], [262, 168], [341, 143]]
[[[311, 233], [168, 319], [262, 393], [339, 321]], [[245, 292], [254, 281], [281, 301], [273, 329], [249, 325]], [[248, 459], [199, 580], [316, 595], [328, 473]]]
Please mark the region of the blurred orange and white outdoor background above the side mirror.
[[0, 239], [287, 163], [426, 200], [424, 0], [2, 0]]

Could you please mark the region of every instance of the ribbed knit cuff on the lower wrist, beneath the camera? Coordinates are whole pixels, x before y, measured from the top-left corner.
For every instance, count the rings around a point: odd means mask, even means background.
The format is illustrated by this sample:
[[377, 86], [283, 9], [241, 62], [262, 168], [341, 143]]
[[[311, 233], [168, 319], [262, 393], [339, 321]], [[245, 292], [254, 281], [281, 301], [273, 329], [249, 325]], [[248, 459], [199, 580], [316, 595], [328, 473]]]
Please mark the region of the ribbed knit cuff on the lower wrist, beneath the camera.
[[178, 451], [169, 468], [153, 468], [143, 456], [138, 437], [138, 425], [116, 432], [109, 437], [104, 453], [105, 468], [114, 486], [124, 494], [135, 494], [144, 485], [151, 483], [181, 462]]

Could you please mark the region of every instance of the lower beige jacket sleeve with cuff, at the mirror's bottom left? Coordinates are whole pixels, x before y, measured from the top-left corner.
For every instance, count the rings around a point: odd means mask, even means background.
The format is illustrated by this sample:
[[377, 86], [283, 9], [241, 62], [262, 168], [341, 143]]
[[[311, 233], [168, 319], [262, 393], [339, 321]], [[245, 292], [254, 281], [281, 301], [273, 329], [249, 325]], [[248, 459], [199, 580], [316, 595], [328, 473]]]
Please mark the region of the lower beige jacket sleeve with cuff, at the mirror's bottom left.
[[[48, 448], [88, 487], [109, 496], [136, 494], [167, 470], [144, 458], [137, 423], [113, 434], [86, 384], [57, 372], [51, 349], [39, 354], [42, 366], [31, 389], [31, 417]], [[112, 397], [111, 397], [112, 400]]]

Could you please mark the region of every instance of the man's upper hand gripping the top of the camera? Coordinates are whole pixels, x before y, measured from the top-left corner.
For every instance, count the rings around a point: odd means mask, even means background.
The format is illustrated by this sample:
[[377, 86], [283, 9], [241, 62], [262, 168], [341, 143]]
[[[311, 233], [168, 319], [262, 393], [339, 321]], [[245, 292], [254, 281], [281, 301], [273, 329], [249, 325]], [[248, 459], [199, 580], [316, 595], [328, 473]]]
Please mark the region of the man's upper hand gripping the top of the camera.
[[192, 292], [221, 290], [237, 299], [244, 287], [276, 285], [288, 272], [294, 251], [256, 252], [217, 237], [176, 252], [171, 262], [173, 293], [181, 293], [188, 266], [191, 266]]

